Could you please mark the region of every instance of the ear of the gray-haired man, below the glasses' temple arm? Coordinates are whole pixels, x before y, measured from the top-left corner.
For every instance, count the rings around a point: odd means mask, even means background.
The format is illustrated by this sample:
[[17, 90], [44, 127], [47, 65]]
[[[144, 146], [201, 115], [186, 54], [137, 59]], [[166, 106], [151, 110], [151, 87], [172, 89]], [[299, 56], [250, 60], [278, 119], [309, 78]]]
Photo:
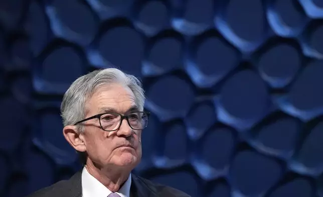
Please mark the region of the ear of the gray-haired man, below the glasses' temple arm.
[[76, 126], [68, 125], [63, 128], [63, 135], [67, 142], [77, 151], [85, 152], [86, 145], [82, 133], [80, 133]]

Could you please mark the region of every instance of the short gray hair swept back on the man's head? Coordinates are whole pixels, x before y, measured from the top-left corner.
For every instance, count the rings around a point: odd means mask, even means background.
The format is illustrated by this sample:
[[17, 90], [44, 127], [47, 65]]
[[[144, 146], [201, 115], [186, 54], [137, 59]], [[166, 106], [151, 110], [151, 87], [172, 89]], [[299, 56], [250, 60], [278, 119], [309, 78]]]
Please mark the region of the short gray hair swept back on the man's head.
[[[143, 110], [144, 90], [138, 78], [116, 68], [92, 71], [76, 79], [64, 94], [61, 104], [63, 124], [73, 125], [85, 119], [86, 102], [104, 84], [119, 83], [128, 86], [135, 96], [139, 110]], [[79, 130], [82, 130], [79, 128]]]

